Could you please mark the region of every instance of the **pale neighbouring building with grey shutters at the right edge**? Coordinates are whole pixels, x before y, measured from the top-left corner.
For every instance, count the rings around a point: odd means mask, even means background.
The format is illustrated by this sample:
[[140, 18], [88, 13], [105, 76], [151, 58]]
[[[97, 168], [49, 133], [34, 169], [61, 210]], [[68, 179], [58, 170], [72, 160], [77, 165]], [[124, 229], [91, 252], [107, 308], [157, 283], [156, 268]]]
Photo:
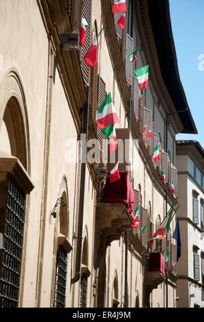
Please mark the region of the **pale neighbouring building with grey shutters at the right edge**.
[[197, 141], [177, 141], [181, 259], [177, 263], [178, 306], [204, 306], [203, 148]]

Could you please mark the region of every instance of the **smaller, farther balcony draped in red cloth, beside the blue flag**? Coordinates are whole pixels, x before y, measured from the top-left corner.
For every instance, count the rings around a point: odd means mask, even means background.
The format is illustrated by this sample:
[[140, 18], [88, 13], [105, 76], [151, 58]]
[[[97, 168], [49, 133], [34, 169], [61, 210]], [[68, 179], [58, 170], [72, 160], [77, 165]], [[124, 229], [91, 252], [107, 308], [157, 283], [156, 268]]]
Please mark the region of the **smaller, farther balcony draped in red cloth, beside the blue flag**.
[[148, 293], [154, 288], [158, 288], [158, 285], [164, 282], [165, 277], [165, 260], [162, 253], [156, 251], [149, 253], [146, 271], [146, 290]]

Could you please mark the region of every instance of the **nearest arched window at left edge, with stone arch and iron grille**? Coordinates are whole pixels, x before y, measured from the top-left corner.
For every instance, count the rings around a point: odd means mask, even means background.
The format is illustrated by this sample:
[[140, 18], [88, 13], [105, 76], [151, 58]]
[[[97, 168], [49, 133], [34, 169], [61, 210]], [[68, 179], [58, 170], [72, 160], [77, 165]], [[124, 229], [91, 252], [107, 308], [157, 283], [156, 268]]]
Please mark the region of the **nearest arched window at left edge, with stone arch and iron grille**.
[[33, 189], [27, 173], [29, 131], [23, 93], [17, 73], [9, 71], [0, 88], [1, 308], [17, 307], [21, 298], [20, 277], [24, 270], [23, 245], [27, 225], [26, 195]]

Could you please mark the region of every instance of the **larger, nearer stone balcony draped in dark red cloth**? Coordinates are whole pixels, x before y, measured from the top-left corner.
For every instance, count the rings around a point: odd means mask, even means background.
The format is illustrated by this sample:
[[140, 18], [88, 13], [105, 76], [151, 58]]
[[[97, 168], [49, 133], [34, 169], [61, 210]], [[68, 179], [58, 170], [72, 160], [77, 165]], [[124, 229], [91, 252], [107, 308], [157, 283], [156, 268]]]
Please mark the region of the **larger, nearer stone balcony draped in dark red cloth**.
[[101, 202], [96, 205], [96, 240], [98, 248], [111, 245], [113, 240], [119, 240], [120, 236], [132, 226], [132, 214], [134, 213], [134, 191], [130, 184], [128, 173], [119, 172], [120, 179], [112, 184], [109, 178]]

